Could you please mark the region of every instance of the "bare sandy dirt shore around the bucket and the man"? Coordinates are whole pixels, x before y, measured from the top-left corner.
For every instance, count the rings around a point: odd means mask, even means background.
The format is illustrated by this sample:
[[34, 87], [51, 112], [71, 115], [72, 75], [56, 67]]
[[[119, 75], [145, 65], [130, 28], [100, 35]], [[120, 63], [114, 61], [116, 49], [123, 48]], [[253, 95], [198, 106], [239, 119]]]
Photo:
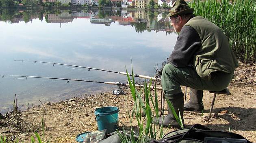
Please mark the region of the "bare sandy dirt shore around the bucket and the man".
[[[231, 95], [217, 95], [213, 108], [212, 118], [207, 118], [213, 94], [204, 91], [204, 114], [184, 111], [184, 122], [187, 127], [199, 123], [212, 130], [228, 131], [240, 134], [251, 142], [256, 142], [256, 66], [248, 65], [236, 69], [235, 79], [228, 86]], [[128, 111], [131, 111], [133, 99], [129, 88], [125, 88], [126, 95], [111, 95], [110, 92], [97, 95], [84, 95], [58, 103], [44, 103], [20, 112], [17, 121], [1, 120], [0, 135], [7, 136], [9, 140], [19, 139], [19, 142], [30, 142], [31, 135], [37, 131], [42, 137], [42, 118], [44, 115], [46, 131], [44, 141], [54, 143], [76, 143], [76, 135], [98, 130], [94, 121], [94, 111], [97, 107], [119, 107], [119, 121], [129, 126]], [[185, 87], [182, 87], [185, 93]], [[154, 92], [152, 92], [154, 94]], [[160, 93], [158, 93], [160, 97]], [[116, 99], [115, 99], [116, 98]], [[160, 98], [158, 98], [160, 99]], [[187, 101], [189, 101], [189, 88]], [[160, 100], [158, 102], [160, 105]], [[166, 105], [166, 103], [165, 103]], [[167, 109], [167, 107], [165, 107]], [[165, 110], [167, 114], [167, 110]], [[120, 124], [119, 124], [120, 126]], [[136, 122], [133, 122], [136, 126]], [[165, 128], [170, 132], [176, 128]], [[35, 135], [34, 135], [35, 137]]]

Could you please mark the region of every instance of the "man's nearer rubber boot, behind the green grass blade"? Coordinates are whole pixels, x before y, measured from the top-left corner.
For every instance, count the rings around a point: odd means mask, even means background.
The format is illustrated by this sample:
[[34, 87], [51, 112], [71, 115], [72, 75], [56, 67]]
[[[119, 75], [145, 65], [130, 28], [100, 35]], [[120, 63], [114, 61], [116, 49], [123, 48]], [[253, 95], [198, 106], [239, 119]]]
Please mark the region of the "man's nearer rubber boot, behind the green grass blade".
[[[178, 93], [173, 95], [172, 97], [167, 97], [169, 101], [171, 101], [172, 105], [174, 106], [175, 112], [179, 117], [179, 111], [180, 111], [180, 116], [182, 119], [182, 123], [184, 125], [184, 119], [183, 119], [183, 107], [184, 107], [184, 101], [183, 101], [183, 93]], [[180, 125], [176, 121], [174, 115], [171, 112], [171, 107], [167, 104], [168, 107], [168, 114], [165, 117], [159, 117], [159, 118], [154, 118], [154, 124], [159, 125], [159, 126], [174, 126], [176, 128], [180, 128]]]

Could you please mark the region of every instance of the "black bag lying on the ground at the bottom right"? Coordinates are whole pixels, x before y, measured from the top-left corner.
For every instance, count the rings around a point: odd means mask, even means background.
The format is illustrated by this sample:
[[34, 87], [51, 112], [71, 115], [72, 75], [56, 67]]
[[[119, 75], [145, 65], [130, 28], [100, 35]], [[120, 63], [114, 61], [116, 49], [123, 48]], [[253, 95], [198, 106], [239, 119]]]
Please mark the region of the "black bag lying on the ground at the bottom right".
[[252, 143], [243, 136], [233, 132], [210, 130], [195, 124], [191, 128], [174, 130], [162, 139], [151, 139], [148, 143]]

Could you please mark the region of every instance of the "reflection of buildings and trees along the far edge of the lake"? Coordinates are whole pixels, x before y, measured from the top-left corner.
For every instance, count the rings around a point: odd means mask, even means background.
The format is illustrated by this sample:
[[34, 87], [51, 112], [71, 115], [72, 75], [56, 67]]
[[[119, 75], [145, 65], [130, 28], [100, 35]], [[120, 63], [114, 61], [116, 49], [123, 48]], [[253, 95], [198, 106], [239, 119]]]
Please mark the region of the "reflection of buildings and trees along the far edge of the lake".
[[[40, 19], [47, 23], [72, 23], [73, 19], [89, 19], [91, 24], [102, 24], [110, 26], [111, 23], [118, 23], [123, 26], [134, 26], [137, 32], [147, 31], [165, 31], [166, 33], [174, 32], [170, 25], [170, 19], [166, 18], [168, 13], [151, 12], [151, 11], [128, 11], [121, 10], [85, 10], [85, 11], [0, 11], [0, 21], [8, 23], [25, 23], [32, 21], [32, 19]], [[4, 18], [3, 18], [4, 17]], [[7, 17], [5, 19], [5, 17]]]

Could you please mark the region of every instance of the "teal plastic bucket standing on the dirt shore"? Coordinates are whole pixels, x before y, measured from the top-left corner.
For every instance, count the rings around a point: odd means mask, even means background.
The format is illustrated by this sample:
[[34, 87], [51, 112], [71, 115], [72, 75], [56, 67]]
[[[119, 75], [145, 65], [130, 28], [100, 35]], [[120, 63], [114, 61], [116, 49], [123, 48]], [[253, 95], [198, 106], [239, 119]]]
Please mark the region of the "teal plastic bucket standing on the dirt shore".
[[118, 129], [118, 112], [119, 108], [114, 106], [106, 106], [97, 108], [94, 111], [96, 115], [98, 130], [107, 129], [107, 133], [114, 132]]

